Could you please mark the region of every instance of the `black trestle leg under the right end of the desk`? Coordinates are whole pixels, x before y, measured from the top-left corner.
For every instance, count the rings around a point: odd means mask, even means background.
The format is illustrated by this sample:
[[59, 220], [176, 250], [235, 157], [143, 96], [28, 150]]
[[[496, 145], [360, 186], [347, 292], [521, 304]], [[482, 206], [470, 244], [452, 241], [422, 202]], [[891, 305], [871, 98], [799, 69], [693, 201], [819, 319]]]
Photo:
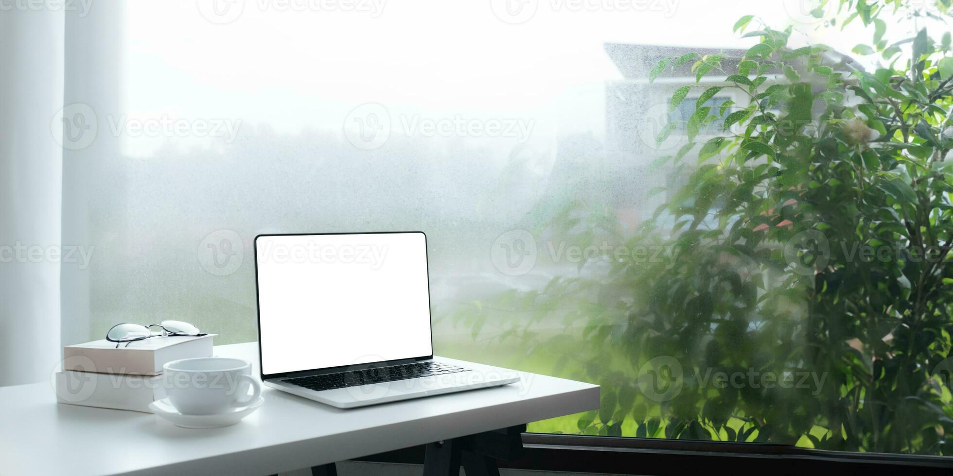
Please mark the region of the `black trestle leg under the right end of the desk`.
[[427, 445], [424, 476], [459, 476], [463, 465], [467, 476], [498, 476], [497, 460], [522, 457], [525, 425], [477, 433]]

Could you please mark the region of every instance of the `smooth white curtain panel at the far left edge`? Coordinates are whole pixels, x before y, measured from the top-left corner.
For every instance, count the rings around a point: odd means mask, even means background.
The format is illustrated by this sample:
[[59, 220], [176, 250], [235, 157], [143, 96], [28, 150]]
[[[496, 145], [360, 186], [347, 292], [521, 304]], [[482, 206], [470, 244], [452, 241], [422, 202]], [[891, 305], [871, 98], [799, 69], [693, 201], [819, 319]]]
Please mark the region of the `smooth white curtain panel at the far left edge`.
[[[12, 5], [12, 4], [10, 4]], [[60, 354], [64, 13], [0, 11], [0, 386], [48, 380]]]

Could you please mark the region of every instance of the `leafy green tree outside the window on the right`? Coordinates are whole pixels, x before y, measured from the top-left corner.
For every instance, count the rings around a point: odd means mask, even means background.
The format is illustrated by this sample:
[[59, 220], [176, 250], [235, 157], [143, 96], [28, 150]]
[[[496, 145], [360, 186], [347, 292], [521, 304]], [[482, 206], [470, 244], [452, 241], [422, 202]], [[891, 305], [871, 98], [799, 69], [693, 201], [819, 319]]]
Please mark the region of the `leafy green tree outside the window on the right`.
[[[950, 33], [891, 42], [882, 16], [906, 2], [840, 7], [826, 28], [862, 22], [873, 41], [854, 52], [888, 67], [791, 48], [791, 29], [744, 32], [752, 16], [735, 30], [760, 43], [741, 57], [662, 59], [651, 79], [693, 63], [697, 80], [727, 80], [672, 98], [674, 109], [701, 92], [689, 143], [661, 159], [689, 177], [656, 212], [675, 225], [648, 220], [625, 242], [659, 247], [661, 259], [611, 257], [598, 279], [499, 297], [497, 307], [532, 311], [510, 338], [550, 352], [556, 373], [603, 386], [580, 431], [953, 453]], [[720, 89], [746, 104], [716, 114], [705, 103]], [[721, 117], [723, 133], [698, 140]], [[583, 246], [618, 234], [605, 214], [578, 209], [549, 232]], [[533, 324], [555, 313], [583, 330], [540, 341]]]

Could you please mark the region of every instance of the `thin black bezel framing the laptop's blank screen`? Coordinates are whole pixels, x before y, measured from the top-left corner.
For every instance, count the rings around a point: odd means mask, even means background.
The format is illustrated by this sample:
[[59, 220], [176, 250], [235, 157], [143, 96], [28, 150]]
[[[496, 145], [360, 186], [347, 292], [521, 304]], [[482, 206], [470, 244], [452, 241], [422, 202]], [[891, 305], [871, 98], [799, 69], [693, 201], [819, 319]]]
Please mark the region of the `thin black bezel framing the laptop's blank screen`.
[[318, 368], [304, 368], [301, 370], [294, 370], [291, 372], [279, 372], [279, 373], [265, 373], [265, 367], [263, 364], [263, 356], [261, 353], [261, 303], [259, 301], [258, 294], [258, 238], [270, 237], [270, 236], [329, 236], [329, 235], [383, 235], [383, 234], [408, 234], [408, 233], [420, 233], [423, 235], [423, 248], [424, 248], [424, 258], [426, 263], [424, 268], [427, 271], [427, 320], [430, 328], [430, 355], [420, 355], [420, 356], [408, 356], [406, 358], [390, 360], [390, 361], [379, 361], [379, 362], [369, 362], [366, 364], [361, 364], [360, 367], [371, 367], [371, 366], [389, 366], [397, 365], [400, 363], [421, 361], [421, 360], [430, 360], [434, 358], [434, 316], [431, 311], [431, 296], [430, 296], [430, 257], [427, 250], [427, 233], [423, 231], [364, 231], [364, 232], [336, 232], [336, 233], [262, 233], [254, 237], [253, 242], [253, 251], [254, 251], [254, 307], [255, 313], [257, 314], [256, 319], [256, 330], [258, 332], [258, 373], [261, 377], [261, 380], [266, 379], [277, 379], [282, 377], [294, 377], [299, 375], [309, 375], [315, 373], [334, 373], [337, 371], [345, 371], [351, 369], [354, 366], [339, 366], [339, 367], [318, 367]]

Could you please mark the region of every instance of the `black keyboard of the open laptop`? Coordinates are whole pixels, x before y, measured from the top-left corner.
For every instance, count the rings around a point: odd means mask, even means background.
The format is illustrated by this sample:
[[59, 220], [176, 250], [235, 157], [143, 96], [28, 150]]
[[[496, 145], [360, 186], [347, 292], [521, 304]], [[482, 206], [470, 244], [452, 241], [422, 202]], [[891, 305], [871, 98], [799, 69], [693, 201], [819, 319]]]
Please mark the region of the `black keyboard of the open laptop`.
[[416, 379], [419, 377], [430, 377], [431, 375], [465, 372], [467, 370], [469, 370], [469, 368], [457, 367], [442, 362], [427, 361], [394, 367], [374, 367], [363, 370], [295, 377], [293, 379], [284, 379], [282, 382], [320, 391], [330, 390], [332, 388], [358, 387], [379, 384], [381, 382], [393, 382], [395, 380]]

